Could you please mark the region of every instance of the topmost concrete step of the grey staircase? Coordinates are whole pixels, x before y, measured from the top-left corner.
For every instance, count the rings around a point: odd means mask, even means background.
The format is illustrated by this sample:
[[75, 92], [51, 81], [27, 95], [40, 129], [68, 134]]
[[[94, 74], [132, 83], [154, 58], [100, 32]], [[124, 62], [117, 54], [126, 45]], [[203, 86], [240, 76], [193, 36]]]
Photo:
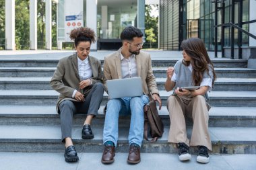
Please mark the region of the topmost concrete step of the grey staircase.
[[[161, 59], [157, 57], [152, 58], [152, 67], [170, 67], [179, 60], [177, 59]], [[100, 59], [102, 65], [104, 60]], [[0, 58], [0, 67], [57, 67], [59, 59], [1, 59]], [[213, 58], [212, 62], [214, 67], [223, 67], [223, 68], [247, 68], [247, 60], [234, 59], [230, 60], [228, 58]]]

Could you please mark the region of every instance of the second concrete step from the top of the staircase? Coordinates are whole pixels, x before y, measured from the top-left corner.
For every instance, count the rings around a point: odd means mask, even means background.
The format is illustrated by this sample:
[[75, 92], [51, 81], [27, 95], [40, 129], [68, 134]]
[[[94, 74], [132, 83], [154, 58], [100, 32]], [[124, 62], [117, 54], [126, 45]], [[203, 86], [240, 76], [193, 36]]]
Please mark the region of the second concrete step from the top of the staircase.
[[[167, 68], [153, 68], [155, 77], [166, 77]], [[56, 67], [1, 67], [0, 77], [52, 77]], [[219, 78], [255, 78], [256, 70], [247, 68], [216, 68]]]

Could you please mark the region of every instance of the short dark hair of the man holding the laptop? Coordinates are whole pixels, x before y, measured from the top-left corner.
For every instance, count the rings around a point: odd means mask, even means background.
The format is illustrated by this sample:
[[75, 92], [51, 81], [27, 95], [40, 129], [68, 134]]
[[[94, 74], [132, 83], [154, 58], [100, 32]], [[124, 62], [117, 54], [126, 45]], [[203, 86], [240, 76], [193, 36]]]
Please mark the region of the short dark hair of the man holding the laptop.
[[125, 28], [123, 30], [123, 32], [121, 32], [120, 38], [121, 40], [133, 40], [134, 37], [142, 37], [143, 33], [141, 32], [141, 30], [139, 30], [139, 28], [135, 28], [133, 26], [129, 26], [127, 28]]

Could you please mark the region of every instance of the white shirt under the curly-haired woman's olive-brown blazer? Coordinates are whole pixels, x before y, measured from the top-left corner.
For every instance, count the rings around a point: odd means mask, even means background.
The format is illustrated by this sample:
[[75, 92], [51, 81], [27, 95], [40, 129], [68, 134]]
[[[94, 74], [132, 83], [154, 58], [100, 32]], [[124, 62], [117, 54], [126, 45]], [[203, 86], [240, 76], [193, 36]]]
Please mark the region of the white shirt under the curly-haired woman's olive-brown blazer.
[[[89, 64], [88, 57], [86, 57], [86, 59], [84, 60], [81, 60], [77, 56], [77, 64], [78, 64], [78, 74], [79, 74], [80, 81], [90, 79], [92, 77], [92, 68]], [[92, 84], [92, 81], [91, 81], [91, 84]], [[73, 91], [72, 97], [75, 97], [76, 92], [77, 90], [75, 89]]]

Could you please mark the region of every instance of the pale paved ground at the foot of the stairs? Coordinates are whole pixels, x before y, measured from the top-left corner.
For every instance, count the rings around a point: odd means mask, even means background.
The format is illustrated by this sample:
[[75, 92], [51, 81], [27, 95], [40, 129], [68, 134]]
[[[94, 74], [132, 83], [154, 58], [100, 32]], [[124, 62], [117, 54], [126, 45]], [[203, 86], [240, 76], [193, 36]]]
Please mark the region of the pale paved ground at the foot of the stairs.
[[0, 153], [0, 165], [3, 170], [13, 169], [93, 169], [93, 170], [254, 170], [256, 169], [256, 155], [210, 155], [210, 163], [196, 162], [196, 155], [192, 160], [181, 162], [176, 154], [141, 154], [141, 163], [129, 165], [126, 162], [127, 153], [117, 153], [115, 163], [103, 165], [100, 162], [102, 153], [79, 153], [78, 163], [66, 163], [63, 153]]

